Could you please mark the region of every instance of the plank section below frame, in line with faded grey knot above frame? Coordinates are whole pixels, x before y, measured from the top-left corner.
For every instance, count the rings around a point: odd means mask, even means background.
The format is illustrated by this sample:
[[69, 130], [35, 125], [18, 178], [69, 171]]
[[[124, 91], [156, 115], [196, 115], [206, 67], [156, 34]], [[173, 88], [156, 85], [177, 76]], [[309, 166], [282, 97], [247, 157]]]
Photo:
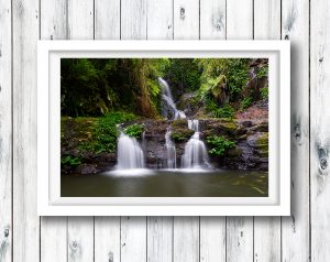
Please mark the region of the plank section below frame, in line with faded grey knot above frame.
[[200, 217], [200, 262], [226, 261], [226, 218]]

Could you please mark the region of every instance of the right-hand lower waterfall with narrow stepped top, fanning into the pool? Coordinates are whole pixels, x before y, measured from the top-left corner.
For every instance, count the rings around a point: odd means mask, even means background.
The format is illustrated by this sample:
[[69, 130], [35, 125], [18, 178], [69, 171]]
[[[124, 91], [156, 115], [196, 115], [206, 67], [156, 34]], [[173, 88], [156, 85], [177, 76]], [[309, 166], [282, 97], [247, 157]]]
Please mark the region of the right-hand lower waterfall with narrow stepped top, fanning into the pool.
[[199, 139], [199, 121], [188, 120], [188, 128], [194, 130], [195, 133], [185, 146], [182, 166], [184, 168], [210, 167], [208, 151], [205, 143]]

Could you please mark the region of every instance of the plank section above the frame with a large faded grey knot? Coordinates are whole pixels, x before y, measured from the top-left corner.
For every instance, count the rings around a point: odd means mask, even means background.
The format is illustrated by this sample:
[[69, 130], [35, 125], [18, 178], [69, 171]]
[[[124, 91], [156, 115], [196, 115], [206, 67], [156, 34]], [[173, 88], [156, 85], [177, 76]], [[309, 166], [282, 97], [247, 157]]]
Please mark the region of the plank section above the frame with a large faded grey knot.
[[226, 39], [226, 0], [200, 1], [200, 39]]

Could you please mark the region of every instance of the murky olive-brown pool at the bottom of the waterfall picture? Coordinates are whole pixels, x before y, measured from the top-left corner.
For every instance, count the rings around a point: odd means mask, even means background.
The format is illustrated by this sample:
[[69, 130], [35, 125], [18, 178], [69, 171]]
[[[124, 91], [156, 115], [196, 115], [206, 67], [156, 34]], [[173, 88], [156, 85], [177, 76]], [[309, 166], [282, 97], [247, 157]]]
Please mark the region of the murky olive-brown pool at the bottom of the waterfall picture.
[[268, 173], [134, 170], [62, 175], [63, 197], [266, 197]]

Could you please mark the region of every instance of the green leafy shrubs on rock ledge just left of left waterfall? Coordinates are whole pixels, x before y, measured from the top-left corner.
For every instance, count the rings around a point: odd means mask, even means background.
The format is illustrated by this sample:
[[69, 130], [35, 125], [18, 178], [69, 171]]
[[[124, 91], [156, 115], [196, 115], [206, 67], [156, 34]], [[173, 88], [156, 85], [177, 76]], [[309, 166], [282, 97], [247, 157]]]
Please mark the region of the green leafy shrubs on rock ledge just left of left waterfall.
[[117, 124], [131, 121], [135, 118], [136, 117], [133, 113], [127, 112], [111, 112], [106, 114], [106, 117], [98, 118], [91, 138], [87, 141], [82, 141], [79, 145], [79, 149], [82, 152], [114, 152], [117, 146], [117, 138], [119, 135]]

